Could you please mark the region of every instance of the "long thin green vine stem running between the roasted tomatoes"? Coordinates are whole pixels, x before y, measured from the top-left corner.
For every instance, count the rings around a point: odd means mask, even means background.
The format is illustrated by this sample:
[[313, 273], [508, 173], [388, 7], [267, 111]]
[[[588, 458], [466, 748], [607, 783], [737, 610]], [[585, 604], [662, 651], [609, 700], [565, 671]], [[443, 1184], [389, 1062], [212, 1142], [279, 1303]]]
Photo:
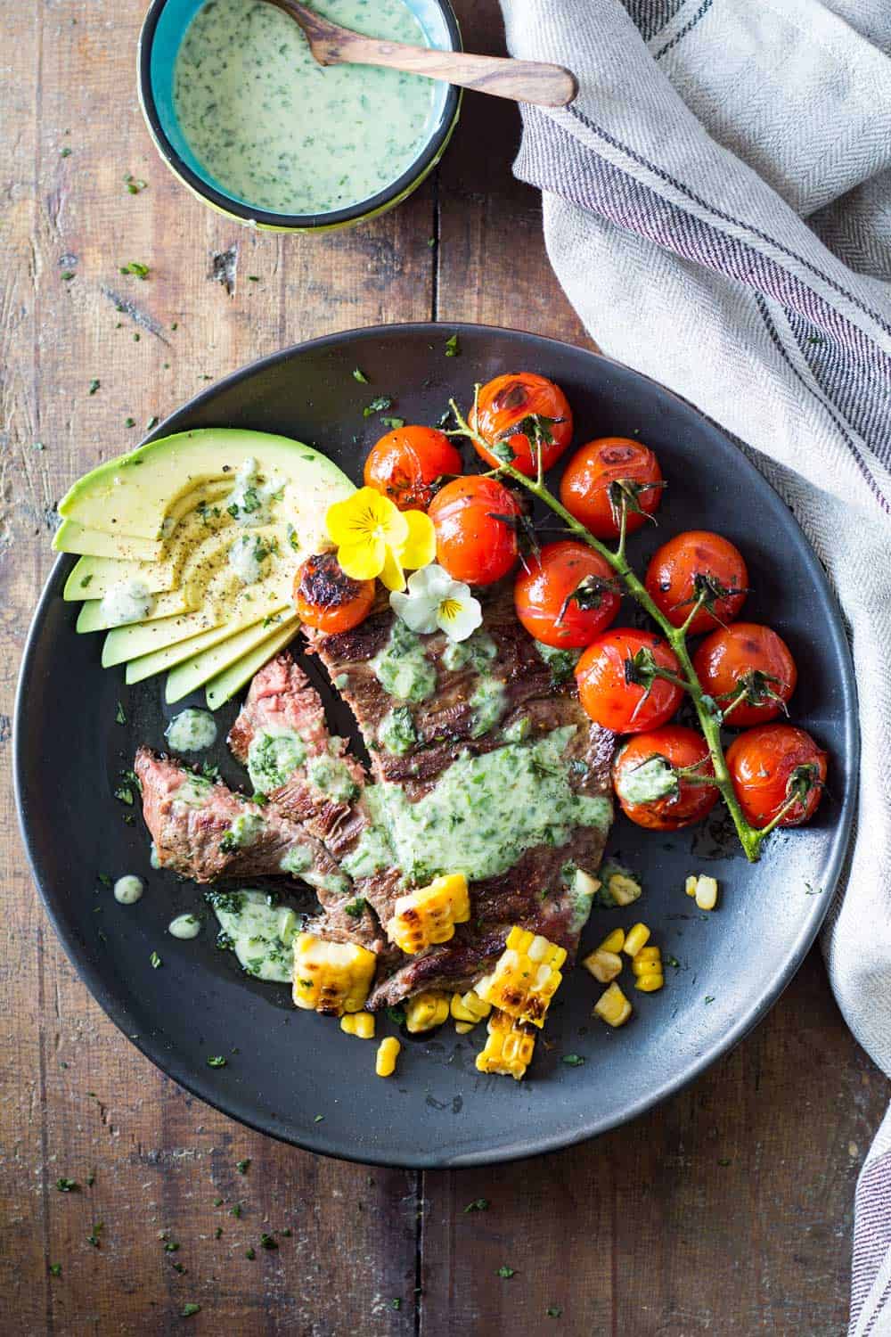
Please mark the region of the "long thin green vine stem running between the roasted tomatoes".
[[[477, 385], [474, 388], [474, 404], [477, 401], [478, 392], [480, 386]], [[449, 400], [449, 405], [452, 408], [452, 412], [454, 413], [456, 422], [458, 424], [458, 431], [448, 435], [466, 436], [472, 441], [476, 441], [477, 445], [481, 447], [484, 451], [490, 451], [492, 447], [489, 445], [489, 443], [468, 424], [468, 421], [461, 414], [461, 410], [458, 409], [456, 401]], [[594, 535], [590, 532], [590, 529], [588, 529], [586, 525], [581, 523], [581, 520], [576, 520], [576, 517], [553, 495], [553, 492], [550, 492], [550, 489], [545, 487], [541, 477], [530, 479], [508, 461], [504, 461], [501, 467], [496, 471], [496, 473], [506, 475], [508, 477], [513, 479], [514, 483], [518, 483], [522, 488], [525, 488], [526, 492], [532, 492], [532, 495], [537, 497], [550, 511], [553, 511], [554, 515], [560, 516], [566, 528], [572, 533], [574, 533], [577, 539], [585, 543], [589, 548], [593, 548], [594, 552], [598, 552], [600, 556], [609, 563], [609, 566], [621, 579], [628, 594], [641, 606], [641, 608], [653, 619], [653, 622], [663, 631], [669, 646], [677, 655], [677, 660], [683, 671], [683, 686], [689, 693], [689, 697], [696, 709], [699, 726], [703, 730], [703, 737], [705, 738], [705, 742], [708, 745], [708, 751], [712, 758], [712, 767], [715, 770], [713, 783], [719, 789], [721, 798], [724, 800], [724, 804], [727, 806], [727, 810], [731, 814], [733, 826], [736, 828], [739, 842], [743, 846], [743, 853], [749, 860], [749, 862], [755, 864], [760, 858], [761, 844], [764, 841], [764, 837], [773, 829], [779, 818], [784, 816], [784, 810], [780, 810], [780, 813], [777, 813], [777, 817], [761, 830], [759, 830], [756, 826], [749, 825], [749, 822], [747, 822], [743, 814], [743, 809], [740, 808], [740, 802], [736, 797], [736, 790], [733, 789], [731, 774], [727, 769], [724, 749], [721, 746], [720, 711], [716, 710], [713, 698], [708, 697], [703, 691], [703, 686], [699, 681], [696, 670], [693, 668], [693, 663], [689, 656], [689, 651], [687, 648], [687, 627], [691, 619], [688, 618], [683, 627], [675, 627], [663, 614], [663, 611], [657, 608], [657, 606], [653, 603], [648, 590], [628, 564], [628, 559], [625, 556], [625, 544], [624, 544], [624, 537], [625, 537], [624, 524], [620, 525], [618, 548], [613, 551], [612, 548], [608, 548], [605, 543], [601, 543], [600, 539], [596, 539]], [[627, 507], [625, 504], [622, 504], [622, 520], [625, 517], [625, 511]], [[693, 611], [696, 611], [696, 608]]]

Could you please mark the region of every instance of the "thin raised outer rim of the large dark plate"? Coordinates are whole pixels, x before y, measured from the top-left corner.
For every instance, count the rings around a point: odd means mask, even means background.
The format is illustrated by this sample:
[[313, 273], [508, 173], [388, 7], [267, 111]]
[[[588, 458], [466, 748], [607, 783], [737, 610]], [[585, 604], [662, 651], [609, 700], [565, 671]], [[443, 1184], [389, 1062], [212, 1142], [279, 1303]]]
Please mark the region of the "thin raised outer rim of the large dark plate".
[[[588, 353], [590, 357], [598, 357], [604, 362], [609, 362], [622, 372], [631, 372], [633, 377], [640, 377], [644, 381], [649, 381], [651, 385], [656, 385], [664, 394], [671, 396], [684, 404], [691, 412], [695, 412], [703, 418], [705, 425], [711, 432], [721, 436], [739, 456], [739, 467], [743, 473], [756, 476], [761, 483], [771, 487], [768, 480], [755, 468], [755, 465], [743, 455], [739, 447], [704, 413], [701, 413], [695, 405], [689, 404], [681, 396], [675, 394], [672, 390], [660, 385], [652, 377], [644, 376], [641, 372], [636, 372], [633, 368], [628, 368], [625, 364], [616, 361], [614, 358], [605, 357], [601, 353], [593, 353], [586, 349], [580, 349], [577, 345], [568, 344], [562, 340], [545, 338], [540, 334], [533, 334], [528, 330], [514, 330], [506, 329], [505, 326], [497, 325], [477, 325], [470, 322], [431, 322], [431, 321], [418, 321], [418, 322], [402, 322], [397, 325], [370, 325], [359, 329], [342, 330], [335, 334], [323, 334], [314, 340], [306, 340], [301, 344], [294, 344], [290, 348], [279, 349], [277, 353], [270, 353], [263, 358], [258, 358], [255, 362], [248, 362], [246, 366], [231, 372], [228, 376], [222, 377], [208, 389], [200, 390], [180, 408], [175, 409], [174, 413], [168, 414], [163, 422], [151, 432], [143, 443], [158, 440], [162, 436], [167, 436], [171, 431], [168, 424], [172, 418], [180, 417], [184, 413], [198, 408], [199, 405], [207, 404], [212, 400], [216, 393], [223, 388], [230, 388], [238, 385], [239, 381], [250, 380], [258, 372], [264, 368], [274, 366], [278, 362], [287, 361], [289, 358], [306, 352], [307, 349], [318, 348], [335, 348], [343, 344], [353, 344], [369, 337], [387, 337], [398, 334], [414, 334], [418, 337], [441, 337], [443, 332], [454, 332], [458, 336], [461, 333], [492, 333], [492, 334], [508, 334], [512, 338], [521, 338], [529, 341], [532, 348], [554, 348], [554, 349], [572, 349], [578, 353]], [[775, 491], [771, 488], [771, 491]], [[733, 1050], [748, 1034], [752, 1031], [759, 1021], [767, 1015], [767, 1012], [773, 1007], [776, 1000], [780, 997], [783, 991], [791, 983], [792, 977], [797, 972], [804, 956], [807, 955], [810, 947], [812, 945], [826, 915], [830, 910], [835, 889], [838, 886], [842, 869], [844, 866], [846, 854], [848, 850], [851, 830], [854, 826], [854, 814], [856, 808], [856, 777], [859, 773], [859, 759], [860, 759], [860, 729], [858, 717], [858, 697], [856, 697], [856, 679], [854, 675], [854, 662], [851, 658], [851, 650], [848, 646], [847, 636], [844, 634], [844, 623], [842, 618], [842, 610], [839, 602], [835, 596], [835, 591], [828, 583], [827, 575], [820, 564], [816, 554], [814, 552], [811, 544], [804, 537], [804, 533], [797, 524], [797, 520], [789, 512], [789, 523], [799, 529], [803, 541], [803, 552], [806, 562], [810, 567], [811, 576], [815, 584], [819, 587], [822, 598], [826, 600], [827, 610], [830, 611], [830, 618], [826, 627], [826, 634], [831, 638], [832, 650], [838, 655], [839, 662], [843, 666], [842, 677], [842, 697], [843, 697], [843, 729], [844, 729], [844, 742], [850, 757], [850, 789], [851, 793], [844, 796], [844, 802], [839, 802], [840, 817], [836, 822], [832, 837], [830, 853], [827, 857], [827, 872], [824, 877], [824, 894], [814, 897], [812, 906], [803, 927], [789, 944], [789, 949], [785, 956], [785, 961], [780, 969], [777, 969], [773, 976], [761, 984], [759, 989], [756, 1003], [737, 1020], [737, 1023], [721, 1038], [721, 1040], [709, 1048], [704, 1050], [687, 1071], [684, 1071], [677, 1078], [663, 1083], [661, 1087], [648, 1092], [640, 1100], [635, 1102], [631, 1107], [625, 1107], [621, 1112], [616, 1114], [614, 1118], [605, 1118], [597, 1120], [593, 1126], [581, 1124], [578, 1128], [569, 1132], [557, 1132], [550, 1136], [536, 1136], [530, 1135], [524, 1143], [513, 1143], [504, 1148], [493, 1147], [488, 1150], [472, 1151], [458, 1155], [405, 1155], [398, 1161], [390, 1157], [378, 1157], [374, 1154], [353, 1155], [349, 1150], [345, 1150], [339, 1140], [333, 1140], [326, 1136], [323, 1127], [319, 1126], [310, 1127], [299, 1138], [293, 1138], [277, 1128], [274, 1123], [266, 1123], [262, 1119], [251, 1116], [251, 1114], [244, 1112], [244, 1099], [238, 1094], [232, 1092], [231, 1100], [226, 1104], [220, 1103], [219, 1095], [215, 1091], [210, 1091], [204, 1082], [202, 1082], [202, 1074], [192, 1068], [187, 1068], [176, 1062], [175, 1056], [168, 1055], [160, 1044], [154, 1046], [150, 1043], [142, 1043], [142, 1038], [134, 1039], [127, 1031], [127, 1011], [126, 1007], [120, 1005], [114, 997], [107, 995], [106, 984], [103, 980], [102, 971], [94, 968], [88, 961], [84, 963], [79, 959], [77, 943], [72, 933], [67, 933], [63, 929], [60, 919], [56, 916], [53, 902], [49, 894], [44, 890], [44, 885], [40, 877], [40, 856], [36, 849], [32, 848], [28, 837], [28, 821], [27, 813], [23, 802], [23, 787], [24, 787], [24, 767], [25, 767], [25, 739], [24, 730], [20, 725], [23, 710], [24, 710], [24, 691], [25, 683], [29, 681], [31, 659], [36, 652], [36, 643], [40, 636], [43, 622], [45, 618], [45, 611], [51, 602], [59, 596], [64, 578], [71, 564], [73, 564], [75, 558], [68, 554], [60, 554], [53, 567], [47, 578], [44, 588], [41, 591], [40, 599], [35, 608], [35, 614], [28, 628], [28, 636], [25, 639], [24, 652], [21, 656], [21, 666], [19, 670], [19, 682], [16, 686], [15, 698], [15, 714], [13, 714], [13, 735], [12, 735], [12, 749], [13, 749], [13, 793], [16, 813], [19, 817], [19, 829], [21, 832], [23, 844], [25, 846], [25, 853], [28, 856], [28, 865], [33, 881], [37, 886], [37, 892], [43, 901], [43, 906], [47, 912], [49, 923], [52, 924], [56, 935], [59, 936], [68, 960], [73, 965], [79, 979], [87, 985], [94, 999], [103, 1008], [106, 1015], [114, 1021], [114, 1024], [124, 1034], [124, 1036], [134, 1044], [140, 1054], [143, 1054], [155, 1067], [160, 1068], [167, 1076], [172, 1078], [179, 1086], [182, 1086], [191, 1095], [198, 1096], [206, 1104], [212, 1108], [219, 1110], [230, 1119], [235, 1119], [239, 1123], [254, 1128], [256, 1132], [263, 1132], [267, 1136], [275, 1138], [278, 1142], [285, 1142], [289, 1146], [297, 1146], [303, 1151], [313, 1151], [321, 1155], [333, 1157], [341, 1161], [354, 1161], [359, 1165], [379, 1165], [410, 1170], [438, 1170], [438, 1169], [461, 1169], [465, 1166], [480, 1166], [480, 1165], [500, 1165], [510, 1161], [522, 1161], [536, 1155], [545, 1155], [552, 1151], [561, 1151], [566, 1147], [576, 1146], [581, 1142], [586, 1142], [590, 1138], [600, 1136], [608, 1132], [610, 1128], [616, 1128], [621, 1124], [631, 1123], [633, 1119], [640, 1118], [648, 1110], [673, 1095], [677, 1095], [685, 1087], [691, 1086], [697, 1078], [703, 1075], [713, 1063], [720, 1058]]]

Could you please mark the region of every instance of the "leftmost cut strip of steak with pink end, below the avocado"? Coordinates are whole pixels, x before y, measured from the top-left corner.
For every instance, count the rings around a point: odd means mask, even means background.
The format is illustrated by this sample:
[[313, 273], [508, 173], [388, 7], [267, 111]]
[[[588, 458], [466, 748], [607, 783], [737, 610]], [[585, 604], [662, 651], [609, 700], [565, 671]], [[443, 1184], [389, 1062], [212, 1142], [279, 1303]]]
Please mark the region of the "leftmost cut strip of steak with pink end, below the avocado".
[[[299, 878], [315, 890], [325, 910], [323, 920], [330, 925], [329, 936], [339, 935], [338, 941], [357, 941], [371, 951], [385, 945], [379, 924], [367, 908], [358, 917], [346, 913], [345, 906], [355, 898], [350, 878], [299, 822], [271, 805], [260, 808], [234, 794], [223, 781], [202, 782], [186, 766], [148, 747], [136, 753], [134, 770], [142, 785], [143, 817], [162, 868], [171, 868], [195, 882], [214, 882], [222, 877], [282, 877], [282, 858], [303, 850], [311, 864]], [[186, 802], [182, 789], [190, 781], [191, 794]], [[244, 816], [260, 818], [262, 830], [251, 845], [227, 849], [226, 836], [232, 822]]]

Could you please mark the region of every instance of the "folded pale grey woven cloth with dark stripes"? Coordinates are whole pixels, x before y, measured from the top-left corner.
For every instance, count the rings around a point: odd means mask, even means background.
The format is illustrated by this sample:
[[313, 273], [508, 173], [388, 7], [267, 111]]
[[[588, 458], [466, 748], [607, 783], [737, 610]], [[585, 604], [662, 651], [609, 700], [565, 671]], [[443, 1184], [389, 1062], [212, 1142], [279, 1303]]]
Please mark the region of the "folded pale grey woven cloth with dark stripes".
[[[859, 826], [823, 943], [891, 1075], [891, 5], [501, 3], [513, 55], [578, 75], [570, 107], [524, 108], [514, 166], [569, 299], [745, 443], [848, 619]], [[851, 1333], [891, 1333], [891, 1116], [858, 1185]]]

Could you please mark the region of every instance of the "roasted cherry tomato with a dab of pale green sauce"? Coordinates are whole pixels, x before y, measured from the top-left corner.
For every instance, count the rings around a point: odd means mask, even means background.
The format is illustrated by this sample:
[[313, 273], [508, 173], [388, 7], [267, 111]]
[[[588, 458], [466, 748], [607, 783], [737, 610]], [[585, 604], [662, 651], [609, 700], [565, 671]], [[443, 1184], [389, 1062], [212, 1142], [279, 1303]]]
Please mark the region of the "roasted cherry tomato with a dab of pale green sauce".
[[708, 743], [695, 729], [665, 725], [622, 743], [613, 762], [613, 789], [625, 816], [656, 832], [701, 821], [717, 802], [717, 789], [681, 771], [715, 774]]

